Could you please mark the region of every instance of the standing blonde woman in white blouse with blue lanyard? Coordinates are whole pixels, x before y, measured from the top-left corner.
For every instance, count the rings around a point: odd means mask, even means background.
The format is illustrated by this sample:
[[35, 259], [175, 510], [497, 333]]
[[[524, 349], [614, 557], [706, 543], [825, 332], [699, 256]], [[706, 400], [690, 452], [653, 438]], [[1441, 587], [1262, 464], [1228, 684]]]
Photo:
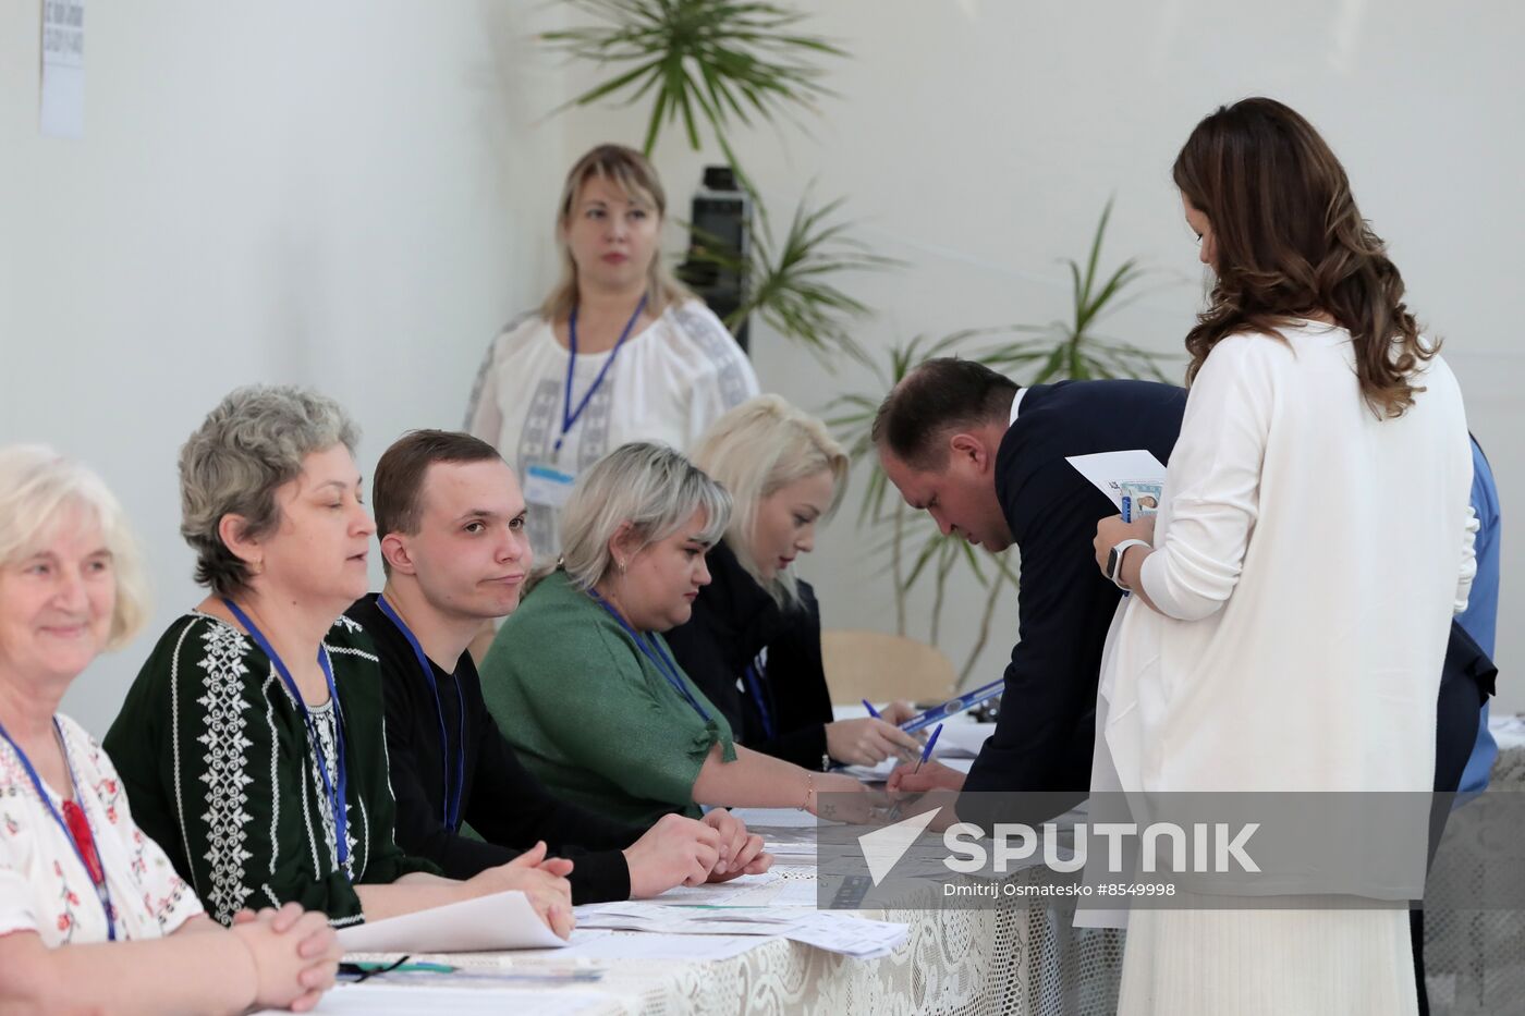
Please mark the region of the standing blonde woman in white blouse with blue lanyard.
[[599, 145], [557, 206], [561, 281], [488, 349], [467, 430], [518, 471], [538, 560], [558, 554], [578, 473], [627, 441], [688, 449], [758, 392], [720, 319], [662, 264], [666, 197], [651, 163]]

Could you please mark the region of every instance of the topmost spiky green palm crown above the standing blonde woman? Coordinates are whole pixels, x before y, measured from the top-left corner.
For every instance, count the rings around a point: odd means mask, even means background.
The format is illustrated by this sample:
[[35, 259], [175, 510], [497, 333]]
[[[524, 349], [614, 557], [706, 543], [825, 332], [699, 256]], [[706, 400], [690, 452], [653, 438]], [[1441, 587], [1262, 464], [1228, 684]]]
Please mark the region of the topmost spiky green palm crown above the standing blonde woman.
[[[753, 117], [772, 122], [814, 110], [831, 95], [822, 84], [825, 56], [846, 56], [834, 43], [798, 31], [804, 14], [753, 0], [569, 0], [599, 24], [546, 32], [541, 40], [573, 56], [618, 67], [612, 78], [567, 105], [602, 99], [631, 105], [650, 99], [645, 153], [665, 127], [683, 122], [691, 148], [700, 121], [732, 166], [729, 133]], [[566, 108], [566, 107], [563, 107]]]

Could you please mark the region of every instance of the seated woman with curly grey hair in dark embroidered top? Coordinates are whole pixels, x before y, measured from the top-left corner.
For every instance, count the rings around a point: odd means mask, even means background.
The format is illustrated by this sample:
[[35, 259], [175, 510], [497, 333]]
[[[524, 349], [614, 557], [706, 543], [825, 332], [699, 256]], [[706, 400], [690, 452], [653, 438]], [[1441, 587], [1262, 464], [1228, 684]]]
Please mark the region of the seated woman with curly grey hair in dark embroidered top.
[[105, 743], [143, 828], [227, 923], [294, 900], [336, 926], [523, 889], [572, 928], [544, 844], [454, 882], [393, 841], [381, 674], [343, 616], [375, 525], [332, 400], [238, 389], [180, 452], [181, 534], [212, 593], [171, 622]]

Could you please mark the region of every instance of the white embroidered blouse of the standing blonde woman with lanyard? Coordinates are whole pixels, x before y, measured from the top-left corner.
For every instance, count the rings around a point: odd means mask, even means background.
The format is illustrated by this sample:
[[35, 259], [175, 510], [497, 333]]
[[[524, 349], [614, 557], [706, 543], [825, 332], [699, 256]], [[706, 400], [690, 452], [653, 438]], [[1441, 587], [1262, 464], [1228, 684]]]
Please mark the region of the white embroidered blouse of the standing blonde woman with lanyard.
[[[580, 352], [572, 368], [573, 407], [610, 352]], [[578, 474], [627, 441], [659, 441], [686, 452], [721, 413], [758, 394], [741, 346], [700, 301], [668, 307], [625, 340], [604, 383], [566, 433], [567, 362], [551, 322], [529, 314], [488, 349], [467, 410], [467, 430], [502, 452], [520, 482], [531, 464]], [[560, 548], [560, 511], [531, 499], [529, 545], [541, 561]]]

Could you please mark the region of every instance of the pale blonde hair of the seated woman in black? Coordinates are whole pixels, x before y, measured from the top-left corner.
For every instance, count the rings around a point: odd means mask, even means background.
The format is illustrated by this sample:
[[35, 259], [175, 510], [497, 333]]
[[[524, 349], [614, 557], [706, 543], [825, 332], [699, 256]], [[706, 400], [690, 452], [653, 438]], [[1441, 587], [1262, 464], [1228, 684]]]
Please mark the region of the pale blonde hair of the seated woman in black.
[[741, 567], [779, 606], [799, 603], [793, 575], [779, 571], [764, 581], [752, 558], [752, 537], [756, 531], [758, 506], [795, 481], [831, 473], [831, 505], [827, 519], [836, 514], [846, 493], [848, 453], [842, 450], [824, 423], [796, 409], [778, 395], [758, 395], [741, 403], [709, 426], [694, 449], [694, 464], [714, 476], [735, 499], [726, 545]]

